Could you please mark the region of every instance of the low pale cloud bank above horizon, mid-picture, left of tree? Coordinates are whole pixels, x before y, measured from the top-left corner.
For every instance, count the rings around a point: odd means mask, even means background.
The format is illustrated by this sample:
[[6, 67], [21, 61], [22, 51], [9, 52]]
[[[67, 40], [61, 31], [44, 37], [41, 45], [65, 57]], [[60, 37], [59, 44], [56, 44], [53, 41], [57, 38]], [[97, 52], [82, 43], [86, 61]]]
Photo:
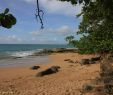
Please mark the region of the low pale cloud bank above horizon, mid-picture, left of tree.
[[65, 37], [69, 35], [75, 35], [76, 30], [70, 28], [67, 25], [63, 25], [59, 28], [48, 28], [43, 30], [36, 30], [30, 32], [32, 36], [32, 41], [36, 43], [46, 43], [46, 44], [61, 44], [66, 43]]

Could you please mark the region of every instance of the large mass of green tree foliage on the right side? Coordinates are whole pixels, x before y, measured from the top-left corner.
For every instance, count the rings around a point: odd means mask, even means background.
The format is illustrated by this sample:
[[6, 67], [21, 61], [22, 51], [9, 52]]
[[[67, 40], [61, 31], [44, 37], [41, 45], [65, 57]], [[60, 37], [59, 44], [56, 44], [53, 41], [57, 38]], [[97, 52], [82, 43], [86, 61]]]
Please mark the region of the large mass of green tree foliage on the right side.
[[77, 15], [83, 17], [77, 32], [82, 37], [74, 43], [81, 53], [113, 52], [113, 0], [61, 1], [83, 4], [82, 12]]

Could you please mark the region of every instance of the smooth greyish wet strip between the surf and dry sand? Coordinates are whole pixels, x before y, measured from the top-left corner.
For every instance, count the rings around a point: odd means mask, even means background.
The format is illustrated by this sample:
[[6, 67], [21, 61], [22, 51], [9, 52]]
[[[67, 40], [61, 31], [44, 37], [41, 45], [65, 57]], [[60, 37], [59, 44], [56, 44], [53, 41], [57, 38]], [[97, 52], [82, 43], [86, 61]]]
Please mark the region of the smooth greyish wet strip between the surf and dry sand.
[[48, 62], [50, 62], [50, 59], [47, 55], [16, 57], [0, 60], [0, 68], [28, 67], [36, 64], [46, 64]]

